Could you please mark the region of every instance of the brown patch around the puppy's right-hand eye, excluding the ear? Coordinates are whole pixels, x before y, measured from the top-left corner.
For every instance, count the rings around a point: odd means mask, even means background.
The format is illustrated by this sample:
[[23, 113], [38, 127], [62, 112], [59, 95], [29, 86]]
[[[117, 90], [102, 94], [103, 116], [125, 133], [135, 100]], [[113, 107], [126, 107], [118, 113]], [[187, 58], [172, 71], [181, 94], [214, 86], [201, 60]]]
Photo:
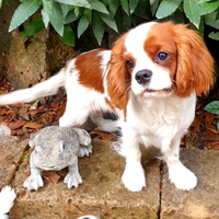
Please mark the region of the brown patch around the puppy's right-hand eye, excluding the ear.
[[[172, 32], [172, 23], [155, 23], [145, 41], [143, 49], [154, 65], [169, 70], [170, 78], [174, 80], [177, 65], [177, 47]], [[160, 54], [168, 55], [166, 60], [160, 60]]]

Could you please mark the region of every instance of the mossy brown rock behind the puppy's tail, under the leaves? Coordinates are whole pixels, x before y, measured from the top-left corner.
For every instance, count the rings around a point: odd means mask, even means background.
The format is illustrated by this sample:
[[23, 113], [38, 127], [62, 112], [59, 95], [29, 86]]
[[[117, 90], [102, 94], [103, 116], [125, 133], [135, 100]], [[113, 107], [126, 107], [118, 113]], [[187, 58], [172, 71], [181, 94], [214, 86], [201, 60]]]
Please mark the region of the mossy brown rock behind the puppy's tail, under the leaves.
[[[36, 19], [38, 13], [32, 19]], [[21, 28], [12, 32], [7, 53], [7, 79], [15, 89], [28, 88], [49, 77], [46, 64], [47, 30], [30, 38], [22, 38]]]

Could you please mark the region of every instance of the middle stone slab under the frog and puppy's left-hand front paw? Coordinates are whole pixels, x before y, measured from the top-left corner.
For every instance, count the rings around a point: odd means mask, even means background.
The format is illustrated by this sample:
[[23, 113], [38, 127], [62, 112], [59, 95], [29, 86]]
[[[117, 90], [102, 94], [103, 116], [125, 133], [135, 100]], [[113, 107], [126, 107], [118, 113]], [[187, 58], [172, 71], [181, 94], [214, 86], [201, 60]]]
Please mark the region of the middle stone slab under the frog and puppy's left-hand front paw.
[[27, 153], [12, 183], [18, 198], [10, 217], [76, 219], [95, 215], [102, 219], [154, 219], [159, 211], [160, 162], [151, 159], [152, 154], [157, 155], [154, 151], [146, 150], [142, 155], [147, 187], [132, 193], [120, 182], [125, 160], [111, 148], [111, 142], [93, 141], [93, 153], [79, 159], [83, 183], [71, 189], [64, 184], [67, 170], [58, 172], [61, 177], [57, 184], [44, 180], [44, 187], [37, 192], [23, 188], [23, 182], [30, 175]]

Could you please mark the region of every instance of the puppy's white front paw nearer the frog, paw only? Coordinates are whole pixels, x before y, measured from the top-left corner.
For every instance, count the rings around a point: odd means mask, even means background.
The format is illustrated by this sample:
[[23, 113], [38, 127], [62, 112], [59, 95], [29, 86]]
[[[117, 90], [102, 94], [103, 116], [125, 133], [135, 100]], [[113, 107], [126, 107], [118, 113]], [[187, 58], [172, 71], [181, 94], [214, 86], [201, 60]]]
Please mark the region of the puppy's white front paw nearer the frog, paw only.
[[131, 192], [139, 192], [146, 186], [145, 171], [141, 164], [127, 164], [122, 181]]

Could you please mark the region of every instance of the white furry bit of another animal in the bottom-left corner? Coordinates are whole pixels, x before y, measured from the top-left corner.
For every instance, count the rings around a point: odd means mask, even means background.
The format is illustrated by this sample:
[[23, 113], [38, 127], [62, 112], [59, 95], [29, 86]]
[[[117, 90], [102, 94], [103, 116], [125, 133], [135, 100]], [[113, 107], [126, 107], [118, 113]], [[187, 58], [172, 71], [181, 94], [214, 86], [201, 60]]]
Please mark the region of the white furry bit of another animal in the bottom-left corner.
[[14, 189], [11, 186], [5, 186], [0, 192], [0, 219], [8, 219], [8, 212], [13, 206], [13, 201], [16, 197]]

